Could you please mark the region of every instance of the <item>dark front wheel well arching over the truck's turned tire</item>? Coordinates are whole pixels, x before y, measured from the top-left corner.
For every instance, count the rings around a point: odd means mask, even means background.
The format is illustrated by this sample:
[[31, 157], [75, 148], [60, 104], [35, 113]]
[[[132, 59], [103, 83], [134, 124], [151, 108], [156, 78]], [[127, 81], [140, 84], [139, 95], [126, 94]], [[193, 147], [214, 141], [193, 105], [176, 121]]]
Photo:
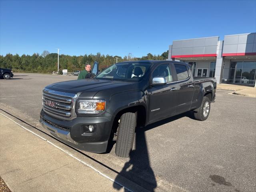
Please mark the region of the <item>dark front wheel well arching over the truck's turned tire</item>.
[[146, 124], [146, 109], [144, 106], [134, 106], [130, 108], [126, 108], [118, 112], [114, 118], [113, 126], [112, 126], [112, 133], [115, 133], [118, 128], [118, 120], [120, 120], [122, 114], [127, 112], [137, 113], [137, 126], [144, 126]]

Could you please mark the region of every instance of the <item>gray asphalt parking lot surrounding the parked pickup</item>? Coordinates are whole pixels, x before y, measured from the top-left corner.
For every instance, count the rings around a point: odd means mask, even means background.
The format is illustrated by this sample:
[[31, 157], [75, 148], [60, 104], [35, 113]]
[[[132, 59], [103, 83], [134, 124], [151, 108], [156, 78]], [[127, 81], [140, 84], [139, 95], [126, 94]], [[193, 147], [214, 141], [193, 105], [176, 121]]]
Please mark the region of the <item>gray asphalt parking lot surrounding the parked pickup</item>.
[[[0, 108], [40, 130], [44, 86], [77, 78], [14, 75], [0, 80]], [[116, 157], [115, 146], [84, 156], [149, 191], [256, 191], [256, 99], [229, 92], [217, 90], [204, 122], [187, 112], [137, 129], [130, 158]]]

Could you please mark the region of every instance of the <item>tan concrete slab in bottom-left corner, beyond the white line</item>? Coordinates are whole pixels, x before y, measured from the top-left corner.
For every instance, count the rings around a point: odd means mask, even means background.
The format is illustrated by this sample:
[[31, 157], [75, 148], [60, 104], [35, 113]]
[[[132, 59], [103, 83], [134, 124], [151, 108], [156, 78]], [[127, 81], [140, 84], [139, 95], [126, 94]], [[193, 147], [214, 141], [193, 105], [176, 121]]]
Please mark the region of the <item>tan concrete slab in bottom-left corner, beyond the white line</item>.
[[0, 176], [12, 192], [118, 191], [110, 179], [2, 114]]

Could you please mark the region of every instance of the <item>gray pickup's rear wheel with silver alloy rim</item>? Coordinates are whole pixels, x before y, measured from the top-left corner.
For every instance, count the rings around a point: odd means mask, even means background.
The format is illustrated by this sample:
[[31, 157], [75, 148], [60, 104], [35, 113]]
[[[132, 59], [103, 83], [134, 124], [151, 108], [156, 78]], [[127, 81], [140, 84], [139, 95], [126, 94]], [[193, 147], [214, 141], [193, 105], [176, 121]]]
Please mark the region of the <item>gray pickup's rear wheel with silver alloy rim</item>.
[[197, 111], [194, 111], [194, 118], [199, 121], [204, 121], [208, 118], [210, 114], [211, 103], [207, 96], [204, 96], [200, 107]]

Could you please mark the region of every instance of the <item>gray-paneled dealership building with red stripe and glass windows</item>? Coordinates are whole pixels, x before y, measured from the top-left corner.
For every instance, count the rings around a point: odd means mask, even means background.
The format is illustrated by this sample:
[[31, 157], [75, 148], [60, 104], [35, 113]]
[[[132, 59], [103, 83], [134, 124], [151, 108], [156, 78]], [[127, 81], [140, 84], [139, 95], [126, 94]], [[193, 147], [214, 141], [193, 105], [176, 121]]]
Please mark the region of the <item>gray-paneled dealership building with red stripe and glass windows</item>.
[[256, 33], [175, 40], [168, 60], [189, 64], [193, 76], [215, 77], [217, 83], [255, 86]]

